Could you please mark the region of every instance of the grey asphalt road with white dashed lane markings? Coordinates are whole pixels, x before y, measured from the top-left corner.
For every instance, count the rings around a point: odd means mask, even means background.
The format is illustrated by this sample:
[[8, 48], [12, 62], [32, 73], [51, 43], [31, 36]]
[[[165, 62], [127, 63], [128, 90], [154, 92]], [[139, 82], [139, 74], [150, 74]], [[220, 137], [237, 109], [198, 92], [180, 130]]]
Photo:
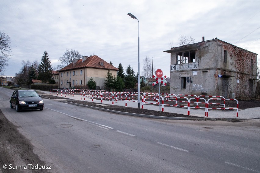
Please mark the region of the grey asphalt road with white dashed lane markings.
[[259, 119], [151, 119], [47, 99], [43, 111], [16, 112], [12, 93], [0, 88], [0, 109], [52, 172], [260, 173]]

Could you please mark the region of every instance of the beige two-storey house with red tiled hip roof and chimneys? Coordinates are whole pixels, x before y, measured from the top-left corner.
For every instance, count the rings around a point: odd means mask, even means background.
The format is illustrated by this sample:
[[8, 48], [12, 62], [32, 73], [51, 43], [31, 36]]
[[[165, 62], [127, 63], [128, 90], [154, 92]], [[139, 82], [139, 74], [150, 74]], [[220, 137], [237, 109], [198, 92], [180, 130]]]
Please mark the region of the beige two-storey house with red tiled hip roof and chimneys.
[[117, 76], [117, 69], [113, 65], [99, 58], [97, 55], [82, 56], [82, 59], [74, 59], [66, 67], [58, 70], [60, 88], [86, 88], [92, 77], [97, 89], [103, 89], [104, 79], [110, 70], [113, 76]]

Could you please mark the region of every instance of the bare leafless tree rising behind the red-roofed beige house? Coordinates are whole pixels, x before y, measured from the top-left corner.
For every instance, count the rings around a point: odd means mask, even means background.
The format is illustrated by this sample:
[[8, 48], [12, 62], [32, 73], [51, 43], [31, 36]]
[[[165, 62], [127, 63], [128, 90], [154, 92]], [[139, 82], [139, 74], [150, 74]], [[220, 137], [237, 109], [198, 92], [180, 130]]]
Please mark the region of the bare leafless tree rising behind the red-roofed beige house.
[[80, 59], [81, 54], [71, 49], [66, 49], [65, 53], [62, 55], [62, 57], [59, 58], [59, 61], [62, 63], [61, 65], [57, 65], [55, 69], [62, 69], [63, 67], [71, 64], [73, 62], [73, 59]]

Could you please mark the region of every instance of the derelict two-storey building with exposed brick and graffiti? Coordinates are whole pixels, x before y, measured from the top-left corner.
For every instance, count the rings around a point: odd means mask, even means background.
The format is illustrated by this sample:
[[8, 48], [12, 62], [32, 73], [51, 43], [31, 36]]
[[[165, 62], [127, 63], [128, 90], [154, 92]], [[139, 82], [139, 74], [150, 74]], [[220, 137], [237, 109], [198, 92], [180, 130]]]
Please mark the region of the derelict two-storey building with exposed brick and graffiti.
[[164, 51], [171, 53], [171, 94], [253, 97], [257, 54], [217, 38]]

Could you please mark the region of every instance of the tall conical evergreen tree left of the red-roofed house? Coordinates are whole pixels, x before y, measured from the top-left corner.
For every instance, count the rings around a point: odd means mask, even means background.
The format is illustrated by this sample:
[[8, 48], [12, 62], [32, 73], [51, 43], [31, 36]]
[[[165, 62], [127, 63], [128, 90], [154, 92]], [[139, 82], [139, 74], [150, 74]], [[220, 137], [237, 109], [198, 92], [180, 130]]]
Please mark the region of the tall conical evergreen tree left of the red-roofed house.
[[38, 66], [38, 74], [38, 79], [42, 80], [43, 83], [49, 82], [52, 78], [52, 65], [47, 51], [42, 55], [41, 62]]

